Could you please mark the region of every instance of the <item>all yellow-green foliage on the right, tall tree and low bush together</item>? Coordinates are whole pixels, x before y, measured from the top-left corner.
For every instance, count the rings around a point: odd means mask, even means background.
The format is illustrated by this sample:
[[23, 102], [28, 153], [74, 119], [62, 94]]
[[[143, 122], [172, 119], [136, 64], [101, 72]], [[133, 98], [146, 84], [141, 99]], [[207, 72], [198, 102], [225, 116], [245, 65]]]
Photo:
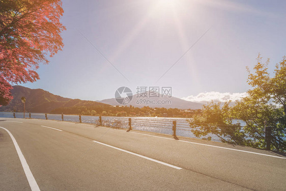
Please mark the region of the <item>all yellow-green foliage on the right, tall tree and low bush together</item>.
[[[247, 71], [248, 84], [252, 87], [247, 96], [236, 101], [233, 106], [211, 102], [204, 105], [201, 115], [189, 120], [196, 137], [217, 135], [222, 142], [265, 148], [265, 123], [272, 127], [271, 149], [286, 149], [286, 58], [276, 64], [273, 77], [268, 72], [270, 60], [254, 66], [254, 72]], [[234, 123], [234, 119], [243, 120], [245, 125]], [[197, 128], [199, 127], [199, 128]], [[210, 137], [208, 137], [210, 139]]]

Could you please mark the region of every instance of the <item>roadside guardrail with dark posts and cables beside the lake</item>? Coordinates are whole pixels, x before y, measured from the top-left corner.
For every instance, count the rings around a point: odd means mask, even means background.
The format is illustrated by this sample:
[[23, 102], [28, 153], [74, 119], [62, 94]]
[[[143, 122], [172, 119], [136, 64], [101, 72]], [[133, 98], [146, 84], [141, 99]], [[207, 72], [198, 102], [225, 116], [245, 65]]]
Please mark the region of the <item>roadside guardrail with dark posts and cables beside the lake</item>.
[[[23, 113], [2, 113], [2, 116], [10, 118], [23, 118]], [[38, 114], [29, 113], [29, 118], [49, 119], [58, 121], [70, 121], [76, 123], [90, 123], [94, 125], [135, 129], [141, 131], [150, 131], [156, 133], [170, 134], [174, 137], [180, 135], [182, 137], [196, 138], [191, 130], [200, 127], [190, 127], [190, 123], [185, 118], [151, 118], [151, 117], [108, 117], [108, 116], [82, 116], [82, 115], [61, 115], [61, 114]], [[225, 131], [225, 130], [224, 130]], [[272, 140], [271, 127], [265, 128], [265, 141], [267, 149], [270, 149]], [[214, 134], [207, 134], [202, 139], [211, 137], [213, 141], [220, 140]]]

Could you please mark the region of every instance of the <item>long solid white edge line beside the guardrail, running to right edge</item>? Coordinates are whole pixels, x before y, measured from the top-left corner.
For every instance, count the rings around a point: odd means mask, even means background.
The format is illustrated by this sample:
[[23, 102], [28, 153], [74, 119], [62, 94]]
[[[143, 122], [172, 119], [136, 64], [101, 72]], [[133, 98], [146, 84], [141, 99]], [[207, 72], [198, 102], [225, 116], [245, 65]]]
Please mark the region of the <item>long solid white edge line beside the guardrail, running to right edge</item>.
[[[101, 127], [101, 128], [107, 128], [107, 127]], [[110, 129], [112, 129], [112, 128], [110, 128]], [[120, 130], [120, 129], [112, 129], [112, 130], [125, 131], [125, 130]], [[127, 132], [127, 131], [125, 131], [125, 132]], [[195, 143], [195, 142], [184, 141], [184, 140], [175, 140], [175, 139], [171, 139], [171, 138], [164, 138], [164, 137], [160, 137], [160, 136], [156, 136], [156, 135], [139, 133], [139, 132], [132, 132], [132, 131], [129, 131], [129, 132], [130, 133], [135, 133], [135, 134], [142, 134], [142, 135], [155, 137], [155, 138], [168, 139], [168, 140], [172, 140], [172, 141], [180, 141], [180, 142], [191, 143], [191, 144], [196, 144], [196, 145], [204, 145], [204, 146], [208, 146], [208, 147], [215, 147], [215, 148], [220, 148], [220, 149], [227, 149], [227, 150], [233, 150], [233, 151], [246, 152], [246, 153], [251, 153], [251, 154], [258, 154], [258, 155], [264, 155], [264, 156], [271, 156], [271, 157], [275, 157], [275, 158], [286, 159], [286, 157], [274, 156], [274, 155], [270, 155], [270, 154], [262, 154], [262, 153], [257, 153], [257, 152], [244, 151], [244, 150], [232, 149], [232, 148], [226, 148], [226, 147], [219, 147], [219, 146], [208, 145], [208, 144], [203, 144], [203, 143]]]

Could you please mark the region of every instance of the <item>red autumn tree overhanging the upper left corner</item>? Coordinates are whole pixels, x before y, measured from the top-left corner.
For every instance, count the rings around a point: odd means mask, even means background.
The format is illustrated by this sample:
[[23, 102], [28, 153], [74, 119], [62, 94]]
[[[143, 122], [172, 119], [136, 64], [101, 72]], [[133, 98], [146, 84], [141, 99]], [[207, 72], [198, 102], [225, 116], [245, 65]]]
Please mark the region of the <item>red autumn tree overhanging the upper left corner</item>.
[[62, 50], [61, 0], [0, 0], [0, 105], [13, 98], [10, 84], [39, 79], [39, 63]]

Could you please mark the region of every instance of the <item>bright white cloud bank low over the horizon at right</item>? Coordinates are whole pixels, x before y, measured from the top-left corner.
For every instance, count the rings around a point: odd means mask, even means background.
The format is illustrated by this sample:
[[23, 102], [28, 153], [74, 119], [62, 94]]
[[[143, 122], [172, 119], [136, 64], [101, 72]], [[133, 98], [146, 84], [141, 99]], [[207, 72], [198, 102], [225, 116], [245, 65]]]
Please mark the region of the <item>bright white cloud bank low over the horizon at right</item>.
[[192, 102], [198, 102], [198, 103], [207, 103], [211, 102], [212, 100], [214, 102], [226, 102], [229, 100], [236, 101], [240, 100], [242, 97], [246, 97], [247, 93], [220, 93], [220, 92], [204, 92], [199, 93], [196, 96], [190, 95], [187, 97], [183, 97], [182, 99]]

